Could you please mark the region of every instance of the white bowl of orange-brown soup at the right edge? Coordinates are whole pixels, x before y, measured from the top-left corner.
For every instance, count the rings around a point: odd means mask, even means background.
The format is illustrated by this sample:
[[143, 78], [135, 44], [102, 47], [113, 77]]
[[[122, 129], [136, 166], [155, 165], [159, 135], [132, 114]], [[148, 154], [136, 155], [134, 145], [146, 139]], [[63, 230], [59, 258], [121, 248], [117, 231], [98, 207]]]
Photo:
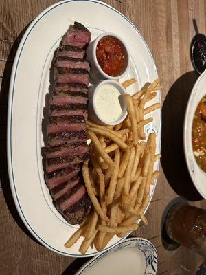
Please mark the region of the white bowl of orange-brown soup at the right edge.
[[183, 143], [190, 177], [206, 199], [206, 70], [196, 80], [187, 102]]

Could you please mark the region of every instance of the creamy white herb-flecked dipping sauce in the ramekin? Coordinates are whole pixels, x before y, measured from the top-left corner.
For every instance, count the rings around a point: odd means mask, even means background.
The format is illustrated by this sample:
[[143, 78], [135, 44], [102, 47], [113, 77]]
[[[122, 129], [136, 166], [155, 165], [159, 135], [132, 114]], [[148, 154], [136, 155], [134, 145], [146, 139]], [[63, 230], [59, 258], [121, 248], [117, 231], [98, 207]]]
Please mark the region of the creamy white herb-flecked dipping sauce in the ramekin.
[[98, 115], [106, 122], [115, 122], [122, 115], [122, 95], [111, 84], [104, 84], [96, 91], [95, 107]]

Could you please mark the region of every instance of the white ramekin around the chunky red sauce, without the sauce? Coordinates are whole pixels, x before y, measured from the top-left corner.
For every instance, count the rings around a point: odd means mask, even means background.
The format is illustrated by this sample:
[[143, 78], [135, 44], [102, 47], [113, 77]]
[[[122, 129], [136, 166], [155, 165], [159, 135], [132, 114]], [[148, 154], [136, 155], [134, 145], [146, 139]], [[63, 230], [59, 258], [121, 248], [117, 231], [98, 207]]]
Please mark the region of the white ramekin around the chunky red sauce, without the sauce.
[[[124, 47], [124, 52], [126, 54], [126, 64], [125, 64], [124, 72], [122, 74], [119, 74], [118, 76], [109, 76], [102, 70], [102, 68], [100, 67], [100, 65], [98, 63], [98, 59], [96, 56], [96, 48], [97, 48], [98, 42], [104, 36], [115, 37], [115, 39], [117, 39], [117, 41], [119, 41]], [[113, 34], [112, 32], [104, 32], [104, 34], [100, 34], [95, 40], [93, 40], [91, 43], [89, 43], [89, 46], [87, 47], [87, 60], [89, 61], [90, 65], [91, 65], [90, 76], [91, 76], [91, 78], [94, 78], [94, 79], [117, 80], [119, 78], [122, 78], [126, 74], [126, 71], [128, 69], [129, 59], [130, 59], [130, 54], [128, 52], [126, 43], [124, 43], [124, 41], [121, 39], [120, 36], [118, 36], [117, 34]]]

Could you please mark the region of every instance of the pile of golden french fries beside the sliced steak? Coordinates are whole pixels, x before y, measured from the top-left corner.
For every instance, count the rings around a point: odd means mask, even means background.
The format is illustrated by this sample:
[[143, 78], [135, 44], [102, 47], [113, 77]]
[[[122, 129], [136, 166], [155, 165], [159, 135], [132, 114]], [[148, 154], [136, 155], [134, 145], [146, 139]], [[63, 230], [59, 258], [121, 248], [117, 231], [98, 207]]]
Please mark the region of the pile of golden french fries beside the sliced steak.
[[[127, 88], [135, 81], [126, 80], [122, 85]], [[145, 106], [157, 96], [159, 83], [157, 79], [133, 96], [125, 94], [128, 115], [124, 122], [101, 126], [87, 121], [91, 159], [84, 162], [82, 171], [93, 208], [65, 247], [70, 248], [83, 236], [80, 253], [85, 254], [90, 246], [100, 251], [115, 234], [122, 238], [137, 230], [137, 221], [147, 225], [144, 211], [150, 199], [150, 185], [159, 175], [153, 171], [154, 164], [161, 155], [155, 155], [155, 133], [150, 133], [145, 141], [144, 126], [153, 118], [145, 119], [144, 115], [161, 107], [161, 103]]]

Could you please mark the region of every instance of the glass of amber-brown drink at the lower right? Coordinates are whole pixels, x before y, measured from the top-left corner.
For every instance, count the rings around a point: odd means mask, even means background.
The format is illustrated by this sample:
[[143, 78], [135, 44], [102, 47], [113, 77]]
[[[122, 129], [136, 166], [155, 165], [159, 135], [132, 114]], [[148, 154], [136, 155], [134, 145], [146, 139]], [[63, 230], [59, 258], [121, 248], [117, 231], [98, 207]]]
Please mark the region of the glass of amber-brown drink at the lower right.
[[206, 257], [206, 210], [176, 203], [165, 220], [170, 239]]

